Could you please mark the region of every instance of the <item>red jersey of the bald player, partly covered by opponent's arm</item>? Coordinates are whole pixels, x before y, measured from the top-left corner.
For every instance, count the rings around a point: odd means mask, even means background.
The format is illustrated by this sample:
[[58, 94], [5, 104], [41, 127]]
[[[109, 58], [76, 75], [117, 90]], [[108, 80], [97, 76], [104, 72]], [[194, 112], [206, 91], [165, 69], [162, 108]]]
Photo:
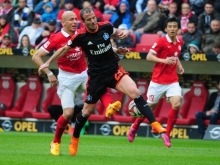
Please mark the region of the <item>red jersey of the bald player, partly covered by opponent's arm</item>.
[[[70, 39], [71, 36], [62, 29], [60, 32], [52, 35], [41, 48], [49, 53], [63, 47]], [[87, 65], [82, 48], [74, 47], [70, 49], [70, 51], [57, 60], [57, 65], [66, 72], [81, 73], [85, 71]]]

